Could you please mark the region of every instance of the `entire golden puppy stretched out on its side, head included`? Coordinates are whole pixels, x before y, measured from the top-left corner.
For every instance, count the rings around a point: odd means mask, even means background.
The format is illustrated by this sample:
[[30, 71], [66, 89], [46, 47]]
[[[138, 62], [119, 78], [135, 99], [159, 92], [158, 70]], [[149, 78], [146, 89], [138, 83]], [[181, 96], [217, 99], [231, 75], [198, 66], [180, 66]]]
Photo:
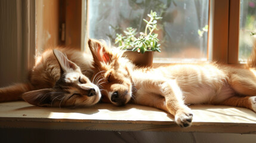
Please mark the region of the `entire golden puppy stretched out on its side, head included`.
[[94, 76], [107, 82], [102, 94], [115, 105], [127, 104], [133, 98], [135, 104], [173, 114], [182, 127], [192, 124], [193, 114], [187, 104], [231, 105], [256, 111], [256, 71], [252, 66], [256, 57], [246, 68], [215, 63], [139, 68], [122, 57], [122, 52], [111, 51], [98, 41], [88, 43], [94, 70], [100, 73]]

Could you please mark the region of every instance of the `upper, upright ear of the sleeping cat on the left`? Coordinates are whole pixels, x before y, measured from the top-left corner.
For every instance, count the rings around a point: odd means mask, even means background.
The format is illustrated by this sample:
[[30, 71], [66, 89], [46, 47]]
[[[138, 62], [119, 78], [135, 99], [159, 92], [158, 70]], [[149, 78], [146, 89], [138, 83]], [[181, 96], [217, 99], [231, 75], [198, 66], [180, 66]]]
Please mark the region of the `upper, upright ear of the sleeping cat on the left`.
[[70, 70], [76, 70], [79, 69], [78, 66], [76, 66], [75, 63], [67, 59], [67, 56], [64, 55], [62, 52], [58, 51], [57, 49], [53, 49], [53, 53], [55, 57], [57, 58], [58, 64], [60, 64], [61, 72], [67, 72]]

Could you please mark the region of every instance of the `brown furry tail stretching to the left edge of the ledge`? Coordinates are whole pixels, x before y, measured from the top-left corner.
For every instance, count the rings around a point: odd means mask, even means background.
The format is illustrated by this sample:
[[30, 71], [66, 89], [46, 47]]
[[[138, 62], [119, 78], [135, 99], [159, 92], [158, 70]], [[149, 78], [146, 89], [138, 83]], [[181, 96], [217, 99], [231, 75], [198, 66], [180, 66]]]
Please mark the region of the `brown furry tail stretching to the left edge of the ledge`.
[[21, 95], [31, 90], [32, 88], [29, 83], [17, 83], [0, 88], [0, 102], [22, 100]]

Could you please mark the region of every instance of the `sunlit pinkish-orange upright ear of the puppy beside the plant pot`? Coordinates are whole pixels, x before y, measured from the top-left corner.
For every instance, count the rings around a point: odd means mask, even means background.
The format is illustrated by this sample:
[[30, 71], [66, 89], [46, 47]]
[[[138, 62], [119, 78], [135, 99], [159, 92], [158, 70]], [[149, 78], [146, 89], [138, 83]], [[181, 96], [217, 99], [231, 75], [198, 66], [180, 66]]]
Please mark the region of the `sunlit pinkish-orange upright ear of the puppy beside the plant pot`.
[[113, 54], [109, 49], [100, 41], [89, 39], [88, 45], [91, 50], [92, 57], [94, 58], [95, 64], [110, 63], [113, 60]]

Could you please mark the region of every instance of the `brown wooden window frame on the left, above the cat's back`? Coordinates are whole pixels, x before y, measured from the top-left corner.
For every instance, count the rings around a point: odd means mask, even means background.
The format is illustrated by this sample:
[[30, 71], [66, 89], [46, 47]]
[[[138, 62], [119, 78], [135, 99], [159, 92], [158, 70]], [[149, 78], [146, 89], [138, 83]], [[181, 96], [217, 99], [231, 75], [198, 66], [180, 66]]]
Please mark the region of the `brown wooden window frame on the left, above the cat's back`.
[[36, 55], [66, 46], [81, 49], [82, 0], [36, 1]]

